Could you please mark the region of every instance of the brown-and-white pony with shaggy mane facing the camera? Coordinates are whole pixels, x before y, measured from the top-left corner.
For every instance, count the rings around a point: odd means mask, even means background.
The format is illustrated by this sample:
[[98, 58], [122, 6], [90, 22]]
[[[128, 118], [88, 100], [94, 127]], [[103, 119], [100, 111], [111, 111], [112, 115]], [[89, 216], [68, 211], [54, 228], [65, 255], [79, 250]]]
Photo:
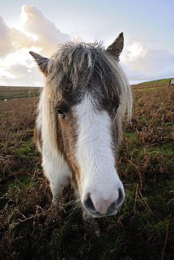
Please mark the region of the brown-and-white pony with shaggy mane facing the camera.
[[125, 199], [116, 167], [124, 117], [132, 113], [132, 92], [119, 65], [124, 37], [103, 44], [68, 42], [51, 58], [30, 52], [45, 85], [35, 126], [42, 167], [53, 203], [61, 188], [75, 189], [84, 219], [116, 214]]

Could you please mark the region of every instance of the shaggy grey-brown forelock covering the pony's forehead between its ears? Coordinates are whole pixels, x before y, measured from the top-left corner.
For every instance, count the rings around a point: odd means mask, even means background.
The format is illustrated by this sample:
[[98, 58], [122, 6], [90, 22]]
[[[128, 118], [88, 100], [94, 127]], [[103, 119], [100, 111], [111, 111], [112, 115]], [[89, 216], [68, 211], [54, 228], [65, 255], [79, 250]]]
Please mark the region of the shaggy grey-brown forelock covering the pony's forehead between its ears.
[[89, 91], [109, 99], [120, 94], [118, 64], [97, 44], [62, 46], [49, 65], [48, 84], [54, 93], [83, 96]]

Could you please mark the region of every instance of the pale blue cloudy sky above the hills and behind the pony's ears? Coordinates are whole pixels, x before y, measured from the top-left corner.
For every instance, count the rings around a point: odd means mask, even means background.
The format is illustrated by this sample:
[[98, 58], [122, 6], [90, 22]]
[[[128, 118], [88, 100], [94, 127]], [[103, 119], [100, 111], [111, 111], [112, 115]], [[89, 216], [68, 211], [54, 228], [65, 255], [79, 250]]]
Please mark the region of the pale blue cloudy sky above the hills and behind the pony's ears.
[[29, 51], [49, 58], [67, 41], [112, 44], [130, 84], [174, 78], [173, 0], [6, 0], [0, 3], [0, 86], [43, 86]]

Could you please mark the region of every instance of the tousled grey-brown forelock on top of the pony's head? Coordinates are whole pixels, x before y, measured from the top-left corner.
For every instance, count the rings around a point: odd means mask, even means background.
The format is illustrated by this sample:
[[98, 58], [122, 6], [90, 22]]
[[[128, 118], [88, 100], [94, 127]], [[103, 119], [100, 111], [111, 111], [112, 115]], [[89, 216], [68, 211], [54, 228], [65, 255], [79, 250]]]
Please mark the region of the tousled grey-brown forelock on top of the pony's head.
[[[49, 62], [48, 82], [56, 83], [61, 91], [66, 90], [67, 84], [73, 87], [87, 86], [92, 79], [102, 84], [106, 93], [118, 96], [120, 93], [119, 77], [114, 71], [116, 60], [108, 58], [108, 53], [100, 43], [75, 44], [68, 43], [59, 46]], [[54, 60], [54, 61], [53, 61]], [[116, 69], [116, 68], [115, 68]]]

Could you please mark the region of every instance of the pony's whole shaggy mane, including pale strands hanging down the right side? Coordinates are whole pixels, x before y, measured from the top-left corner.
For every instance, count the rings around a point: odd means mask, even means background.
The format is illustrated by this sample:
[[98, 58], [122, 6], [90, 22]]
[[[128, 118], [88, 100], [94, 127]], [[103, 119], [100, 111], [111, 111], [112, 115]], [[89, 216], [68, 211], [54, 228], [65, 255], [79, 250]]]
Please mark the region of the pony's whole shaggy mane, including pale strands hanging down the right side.
[[[68, 43], [58, 47], [58, 51], [49, 59], [46, 77], [47, 96], [56, 103], [63, 99], [68, 87], [73, 93], [88, 88], [94, 95], [103, 93], [111, 103], [120, 105], [116, 115], [118, 136], [122, 133], [122, 123], [126, 110], [128, 119], [132, 113], [132, 93], [128, 79], [103, 44]], [[120, 138], [119, 138], [120, 139]]]

